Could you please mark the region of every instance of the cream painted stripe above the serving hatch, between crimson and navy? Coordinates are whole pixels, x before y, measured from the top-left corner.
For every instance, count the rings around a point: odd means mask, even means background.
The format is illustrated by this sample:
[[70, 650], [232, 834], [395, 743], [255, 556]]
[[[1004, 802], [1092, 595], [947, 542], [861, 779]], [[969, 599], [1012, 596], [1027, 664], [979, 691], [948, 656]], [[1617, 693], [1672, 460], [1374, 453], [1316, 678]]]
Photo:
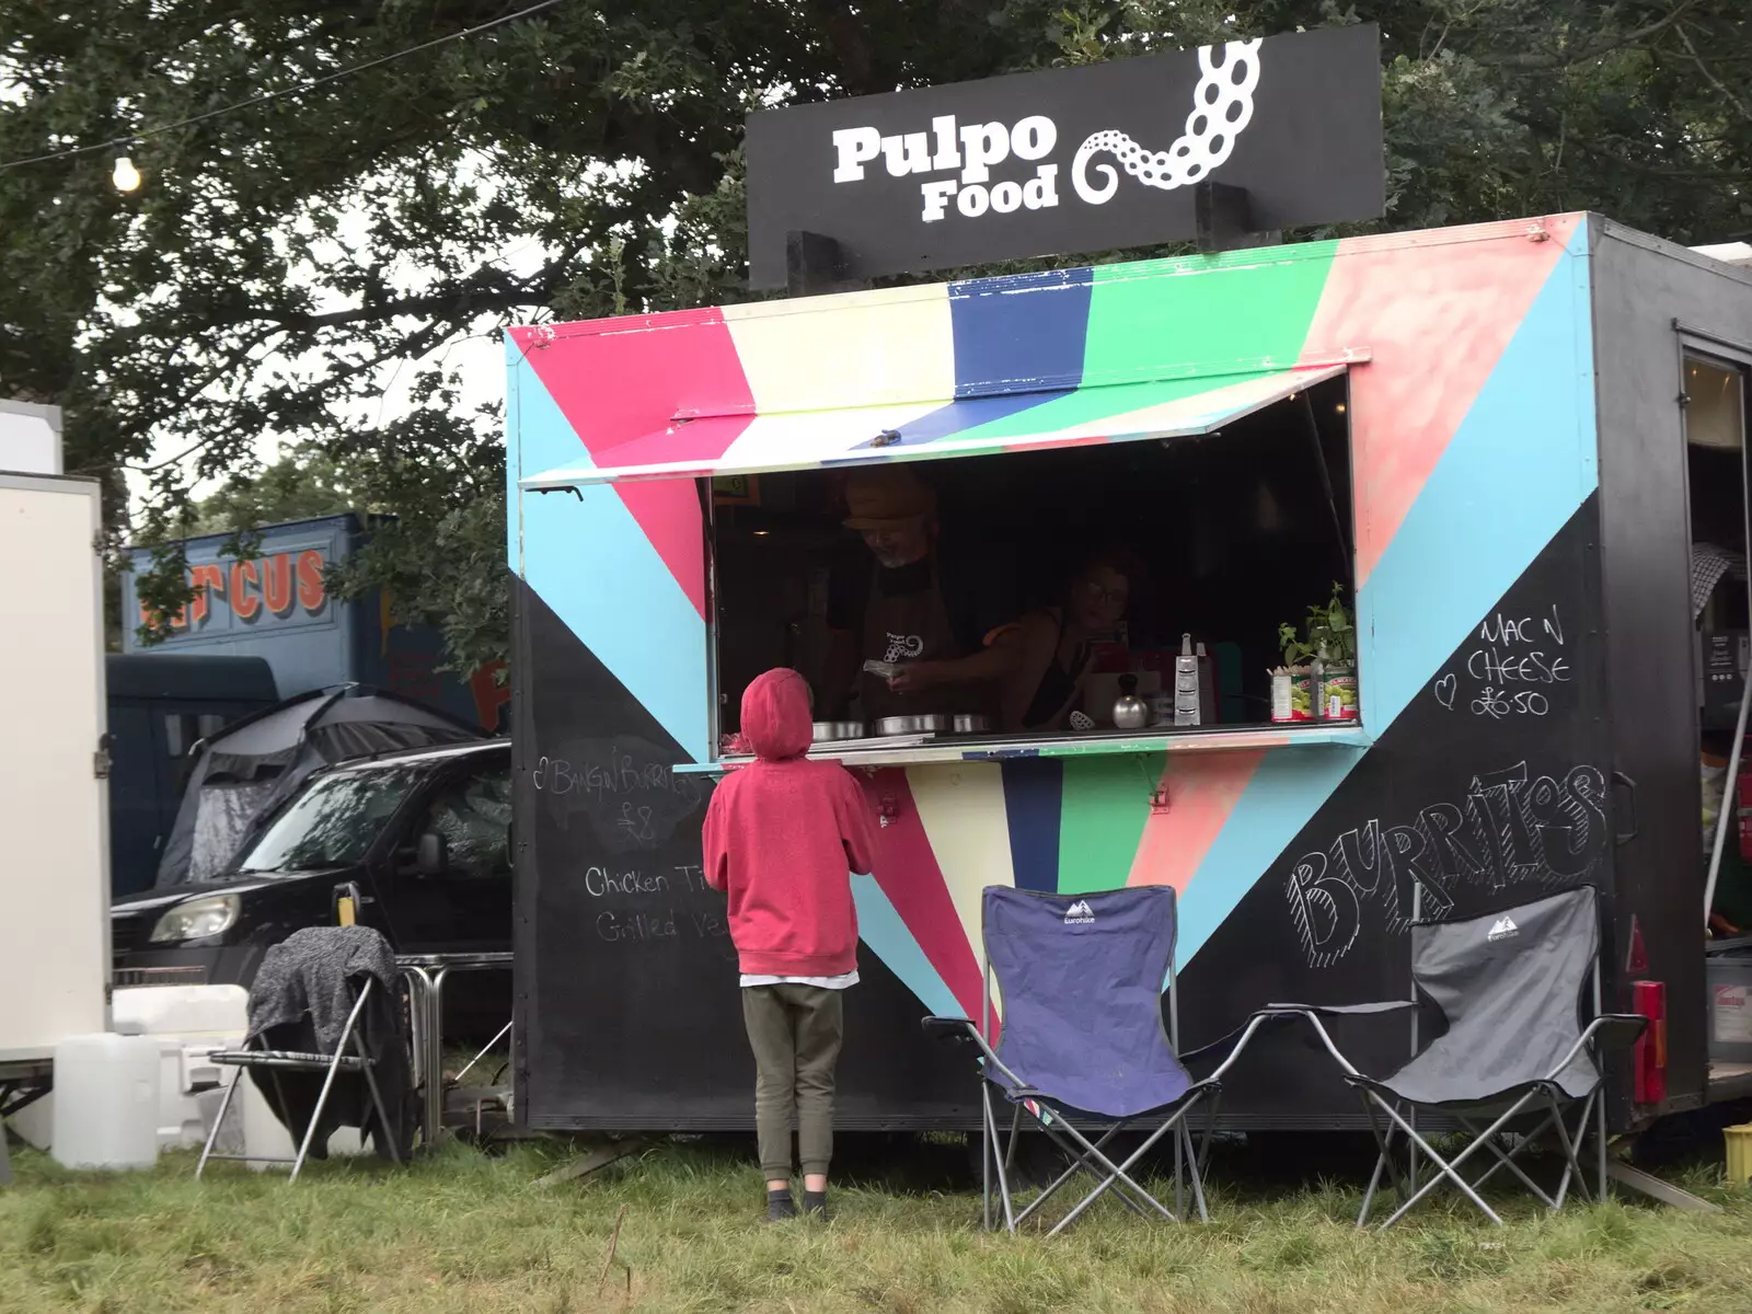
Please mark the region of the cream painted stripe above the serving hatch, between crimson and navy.
[[725, 307], [724, 322], [760, 415], [955, 396], [946, 284], [755, 301]]

